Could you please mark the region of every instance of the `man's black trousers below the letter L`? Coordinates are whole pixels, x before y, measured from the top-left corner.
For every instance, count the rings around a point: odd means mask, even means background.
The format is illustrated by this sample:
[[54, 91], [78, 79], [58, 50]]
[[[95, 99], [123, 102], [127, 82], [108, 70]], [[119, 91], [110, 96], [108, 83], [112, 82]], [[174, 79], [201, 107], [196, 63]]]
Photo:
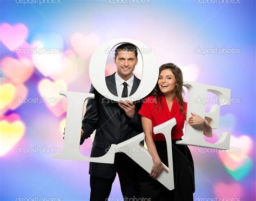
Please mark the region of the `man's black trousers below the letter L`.
[[[124, 153], [116, 153], [114, 157], [123, 198], [138, 197], [138, 164]], [[90, 201], [106, 201], [109, 198], [114, 178], [101, 178], [90, 176]]]

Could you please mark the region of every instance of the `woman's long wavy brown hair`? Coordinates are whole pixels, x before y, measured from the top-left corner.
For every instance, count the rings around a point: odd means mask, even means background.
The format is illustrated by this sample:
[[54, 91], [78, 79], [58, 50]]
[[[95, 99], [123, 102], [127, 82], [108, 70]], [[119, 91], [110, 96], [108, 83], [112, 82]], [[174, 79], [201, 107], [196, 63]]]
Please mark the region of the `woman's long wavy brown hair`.
[[[183, 96], [182, 96], [182, 94], [184, 93], [183, 74], [182, 74], [180, 68], [177, 67], [175, 64], [168, 63], [168, 64], [163, 64], [163, 65], [160, 66], [159, 75], [163, 70], [166, 70], [166, 69], [171, 70], [172, 73], [174, 74], [175, 78], [176, 78], [177, 86], [175, 86], [175, 88], [174, 88], [175, 97], [176, 97], [176, 100], [179, 103], [180, 113], [186, 115], [186, 113], [183, 111], [183, 109], [184, 109], [184, 102], [183, 102]], [[163, 93], [160, 91], [160, 88], [159, 88], [158, 83], [157, 83], [156, 87], [154, 87], [153, 91], [151, 92], [151, 95], [153, 95], [154, 98], [156, 98], [156, 100], [157, 100], [156, 105], [158, 104], [158, 101], [160, 102], [160, 107], [158, 108], [158, 110], [163, 105], [163, 103], [160, 99], [161, 94], [163, 94]]]

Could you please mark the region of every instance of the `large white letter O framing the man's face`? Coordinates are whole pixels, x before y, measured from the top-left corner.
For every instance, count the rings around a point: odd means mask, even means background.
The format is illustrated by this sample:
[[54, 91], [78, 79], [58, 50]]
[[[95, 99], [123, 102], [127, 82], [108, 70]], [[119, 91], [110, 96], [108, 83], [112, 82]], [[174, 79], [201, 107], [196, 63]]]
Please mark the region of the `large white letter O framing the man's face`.
[[[132, 43], [136, 45], [139, 49], [144, 48], [149, 50], [150, 48], [146, 46], [144, 43], [133, 40], [130, 38], [116, 38], [109, 41], [106, 41], [102, 45], [100, 45], [97, 50], [92, 54], [89, 66], [89, 75], [92, 82], [93, 87], [97, 89], [97, 91], [104, 95], [106, 98], [111, 99], [113, 101], [122, 100], [131, 100], [136, 101], [139, 99], [144, 98], [148, 95], [154, 86], [157, 84], [158, 74], [159, 74], [159, 66], [157, 63], [156, 55], [153, 51], [147, 51], [147, 53], [141, 52], [142, 59], [143, 59], [143, 73], [142, 73], [142, 80], [140, 81], [139, 87], [137, 91], [127, 97], [121, 98], [118, 96], [113, 95], [109, 92], [109, 89], [105, 83], [105, 66], [108, 53], [106, 50], [109, 50], [109, 47], [113, 47], [117, 44], [121, 43]], [[139, 52], [138, 52], [139, 53]]]

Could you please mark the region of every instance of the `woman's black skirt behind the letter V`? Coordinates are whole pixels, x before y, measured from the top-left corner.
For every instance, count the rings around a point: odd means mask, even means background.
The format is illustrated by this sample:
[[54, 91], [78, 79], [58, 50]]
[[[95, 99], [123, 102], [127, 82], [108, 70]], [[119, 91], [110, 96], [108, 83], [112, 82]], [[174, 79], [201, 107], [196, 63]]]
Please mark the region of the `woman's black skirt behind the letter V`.
[[[168, 190], [164, 185], [154, 180], [143, 168], [140, 168], [139, 192], [140, 197], [144, 200], [193, 200], [195, 191], [193, 158], [187, 145], [176, 144], [176, 141], [172, 141], [174, 189]], [[154, 143], [161, 162], [169, 167], [166, 142], [154, 141]]]

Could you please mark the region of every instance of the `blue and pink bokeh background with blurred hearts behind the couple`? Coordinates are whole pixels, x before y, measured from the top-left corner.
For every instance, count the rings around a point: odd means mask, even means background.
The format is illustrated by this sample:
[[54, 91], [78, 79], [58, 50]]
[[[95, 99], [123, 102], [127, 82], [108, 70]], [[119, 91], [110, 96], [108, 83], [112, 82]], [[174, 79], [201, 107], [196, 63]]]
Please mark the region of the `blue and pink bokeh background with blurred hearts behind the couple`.
[[[194, 200], [255, 200], [255, 1], [5, 0], [0, 9], [1, 200], [89, 200], [89, 163], [52, 158], [66, 117], [58, 91], [89, 92], [91, 54], [120, 37], [152, 48], [159, 66], [177, 64], [184, 80], [231, 89], [210, 140], [229, 131], [231, 149], [190, 147]], [[110, 58], [106, 75], [114, 71]], [[88, 139], [81, 150], [90, 149]], [[110, 198], [122, 200], [118, 177]]]

